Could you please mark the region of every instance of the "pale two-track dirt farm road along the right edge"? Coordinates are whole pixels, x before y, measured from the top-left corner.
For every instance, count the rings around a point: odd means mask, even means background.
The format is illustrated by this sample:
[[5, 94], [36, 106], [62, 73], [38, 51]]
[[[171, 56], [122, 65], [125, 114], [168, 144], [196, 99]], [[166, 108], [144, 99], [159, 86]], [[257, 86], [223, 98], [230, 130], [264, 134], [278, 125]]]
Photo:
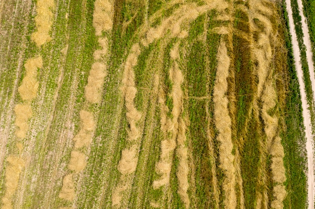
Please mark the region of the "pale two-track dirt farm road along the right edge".
[[[294, 54], [294, 61], [295, 67], [298, 77], [298, 82], [300, 85], [300, 93], [301, 93], [301, 100], [302, 100], [302, 108], [303, 108], [303, 118], [304, 118], [304, 126], [305, 126], [305, 134], [306, 134], [306, 151], [307, 151], [307, 199], [308, 199], [308, 209], [314, 208], [314, 160], [313, 160], [313, 143], [312, 143], [312, 133], [311, 133], [311, 121], [310, 121], [310, 114], [309, 110], [307, 109], [307, 101], [306, 101], [306, 93], [305, 93], [305, 85], [303, 82], [303, 72], [301, 66], [301, 58], [299, 47], [297, 43], [296, 32], [294, 29], [293, 17], [292, 17], [292, 9], [291, 9], [291, 2], [290, 0], [285, 0], [286, 8], [289, 16], [289, 25], [290, 25], [290, 34], [292, 36], [292, 46], [293, 46], [293, 54]], [[314, 68], [313, 68], [313, 61], [311, 56], [310, 50], [310, 39], [308, 34], [308, 28], [305, 23], [305, 17], [302, 13], [302, 2], [301, 0], [297, 0], [298, 7], [299, 7], [299, 14], [302, 20], [302, 30], [304, 34], [303, 42], [306, 46], [306, 58], [307, 64], [309, 68], [310, 80], [313, 93], [315, 92], [315, 78], [314, 78]], [[313, 94], [314, 99], [314, 94]]]

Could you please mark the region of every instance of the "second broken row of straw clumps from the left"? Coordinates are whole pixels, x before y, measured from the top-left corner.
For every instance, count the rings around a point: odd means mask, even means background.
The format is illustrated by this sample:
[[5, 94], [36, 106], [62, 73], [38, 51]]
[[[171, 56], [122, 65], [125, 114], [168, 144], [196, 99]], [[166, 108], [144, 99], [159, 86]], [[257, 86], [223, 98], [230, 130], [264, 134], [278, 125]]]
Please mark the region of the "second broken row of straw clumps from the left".
[[[112, 29], [113, 13], [114, 8], [112, 1], [95, 1], [93, 26], [97, 36], [102, 36], [104, 31]], [[102, 60], [108, 51], [108, 39], [106, 37], [99, 37], [98, 42], [102, 49], [94, 52], [95, 62], [92, 64], [88, 77], [88, 83], [85, 86], [85, 98], [87, 100], [87, 105], [97, 104], [101, 101], [104, 80], [107, 76], [106, 63], [103, 63]], [[71, 151], [70, 161], [68, 164], [68, 168], [71, 170], [71, 173], [63, 177], [62, 187], [59, 193], [60, 198], [68, 201], [73, 201], [75, 198], [73, 174], [83, 171], [87, 164], [87, 156], [80, 151], [80, 149], [90, 146], [96, 129], [93, 114], [84, 110], [84, 108], [80, 111], [80, 121], [81, 129], [72, 139], [74, 141], [74, 150]], [[71, 207], [59, 207], [59, 209], [65, 208]]]

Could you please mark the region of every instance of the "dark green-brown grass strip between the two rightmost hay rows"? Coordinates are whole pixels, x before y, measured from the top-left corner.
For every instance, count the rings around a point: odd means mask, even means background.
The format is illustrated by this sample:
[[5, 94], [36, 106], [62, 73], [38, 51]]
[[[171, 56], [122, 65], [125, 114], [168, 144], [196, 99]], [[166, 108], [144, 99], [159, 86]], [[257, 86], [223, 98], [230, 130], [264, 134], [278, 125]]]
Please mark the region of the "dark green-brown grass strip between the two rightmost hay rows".
[[[243, 6], [246, 9], [237, 8]], [[242, 8], [242, 7], [241, 7]], [[258, 143], [253, 143], [248, 131], [251, 123], [251, 112], [254, 100], [254, 94], [257, 91], [255, 76], [253, 75], [253, 63], [251, 58], [251, 41], [247, 34], [250, 33], [249, 15], [247, 5], [235, 3], [235, 17], [233, 34], [233, 63], [231, 71], [234, 77], [230, 82], [229, 92], [234, 92], [234, 98], [231, 97], [230, 114], [232, 118], [232, 137], [234, 143], [235, 164], [237, 167], [238, 181], [238, 205], [240, 208], [254, 208], [256, 181], [253, 176], [257, 174]], [[232, 95], [231, 95], [232, 96]], [[255, 129], [254, 129], [255, 130]], [[246, 169], [251, 166], [251, 169]], [[255, 173], [256, 172], [256, 173]]]

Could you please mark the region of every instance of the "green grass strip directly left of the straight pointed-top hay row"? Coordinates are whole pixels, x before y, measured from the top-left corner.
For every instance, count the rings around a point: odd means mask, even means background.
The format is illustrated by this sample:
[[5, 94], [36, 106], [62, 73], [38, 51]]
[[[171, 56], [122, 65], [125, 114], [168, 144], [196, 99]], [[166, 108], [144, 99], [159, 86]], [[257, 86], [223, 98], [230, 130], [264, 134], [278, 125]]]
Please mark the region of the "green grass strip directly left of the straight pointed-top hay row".
[[[208, 140], [213, 140], [209, 138], [206, 131], [207, 127], [213, 128], [213, 122], [207, 121], [203, 123], [200, 121], [208, 120], [206, 118], [206, 110], [209, 108], [207, 103], [210, 103], [212, 98], [212, 89], [215, 80], [215, 67], [216, 58], [215, 53], [217, 50], [217, 45], [219, 41], [219, 35], [207, 32], [207, 39], [203, 43], [198, 40], [198, 37], [204, 32], [204, 22], [207, 16], [213, 18], [213, 13], [206, 14], [205, 16], [200, 16], [192, 23], [189, 31], [189, 47], [187, 49], [187, 69], [185, 72], [185, 85], [188, 88], [188, 106], [185, 107], [185, 111], [189, 114], [190, 126], [188, 129], [188, 139], [192, 143], [192, 159], [195, 164], [195, 185], [196, 193], [190, 193], [191, 198], [195, 199], [192, 202], [193, 206], [199, 207], [215, 207], [218, 202], [215, 202], [214, 186], [212, 185], [212, 180], [215, 177], [211, 171], [212, 166], [215, 166], [215, 162], [211, 161], [209, 156], [210, 147]], [[213, 27], [215, 25], [208, 19], [206, 22], [207, 27]], [[204, 54], [206, 52], [206, 54]], [[206, 61], [206, 59], [208, 61]], [[211, 89], [211, 90], [210, 90]], [[196, 99], [194, 99], [196, 97]], [[206, 97], [205, 99], [198, 99], [199, 97]], [[213, 119], [213, 118], [212, 118]], [[210, 123], [210, 124], [208, 124]], [[213, 130], [212, 130], [213, 131]], [[192, 192], [192, 191], [191, 191]]]

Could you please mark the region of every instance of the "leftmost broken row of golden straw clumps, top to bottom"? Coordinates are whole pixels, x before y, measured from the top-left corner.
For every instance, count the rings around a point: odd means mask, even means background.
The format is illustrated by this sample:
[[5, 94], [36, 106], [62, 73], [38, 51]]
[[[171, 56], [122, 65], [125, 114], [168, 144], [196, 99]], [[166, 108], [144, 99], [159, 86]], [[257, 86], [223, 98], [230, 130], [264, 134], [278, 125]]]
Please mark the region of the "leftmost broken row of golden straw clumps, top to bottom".
[[[38, 47], [50, 40], [48, 35], [52, 24], [53, 13], [51, 9], [54, 8], [54, 1], [38, 0], [36, 3], [37, 16], [35, 17], [35, 24], [37, 31], [34, 32], [32, 40]], [[32, 117], [31, 102], [37, 96], [38, 81], [36, 79], [38, 68], [42, 68], [43, 60], [41, 56], [28, 59], [24, 65], [25, 77], [22, 80], [18, 92], [23, 100], [22, 104], [17, 104], [14, 108], [17, 127], [15, 135], [22, 140], [26, 137], [29, 129], [28, 120]], [[21, 152], [23, 145], [18, 142], [17, 147]], [[8, 167], [5, 175], [6, 192], [2, 198], [4, 209], [12, 209], [12, 197], [18, 188], [20, 173], [25, 166], [24, 159], [21, 156], [10, 155], [7, 159]]]

